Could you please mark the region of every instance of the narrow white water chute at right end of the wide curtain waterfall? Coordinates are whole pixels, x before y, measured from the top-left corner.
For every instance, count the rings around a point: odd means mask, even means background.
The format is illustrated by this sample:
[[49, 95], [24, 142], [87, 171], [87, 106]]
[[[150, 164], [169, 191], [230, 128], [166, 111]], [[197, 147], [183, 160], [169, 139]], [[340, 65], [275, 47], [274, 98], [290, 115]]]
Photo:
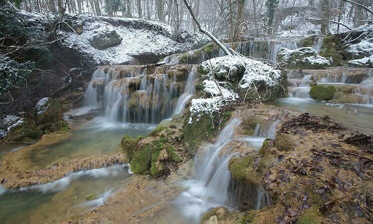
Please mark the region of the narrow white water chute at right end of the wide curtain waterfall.
[[174, 114], [181, 114], [185, 108], [185, 104], [188, 102], [190, 97], [196, 92], [195, 77], [197, 75], [197, 66], [192, 66], [189, 71], [188, 79], [186, 81], [184, 92], [180, 95], [174, 110]]

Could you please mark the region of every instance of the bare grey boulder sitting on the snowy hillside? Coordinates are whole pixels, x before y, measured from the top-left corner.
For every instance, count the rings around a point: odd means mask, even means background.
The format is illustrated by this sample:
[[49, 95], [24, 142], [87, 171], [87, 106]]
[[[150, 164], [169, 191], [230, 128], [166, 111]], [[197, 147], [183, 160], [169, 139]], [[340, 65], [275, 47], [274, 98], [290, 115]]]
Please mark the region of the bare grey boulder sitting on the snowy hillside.
[[93, 35], [91, 46], [98, 50], [103, 50], [120, 44], [121, 40], [122, 38], [114, 29], [106, 27]]

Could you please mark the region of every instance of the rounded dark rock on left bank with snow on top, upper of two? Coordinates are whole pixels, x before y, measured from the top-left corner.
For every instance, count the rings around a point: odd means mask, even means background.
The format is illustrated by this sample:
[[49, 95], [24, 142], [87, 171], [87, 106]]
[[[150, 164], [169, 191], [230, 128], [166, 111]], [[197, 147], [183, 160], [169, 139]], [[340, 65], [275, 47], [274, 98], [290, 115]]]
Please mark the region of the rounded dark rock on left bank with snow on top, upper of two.
[[35, 122], [38, 125], [55, 123], [63, 118], [62, 105], [52, 97], [44, 97], [35, 105]]

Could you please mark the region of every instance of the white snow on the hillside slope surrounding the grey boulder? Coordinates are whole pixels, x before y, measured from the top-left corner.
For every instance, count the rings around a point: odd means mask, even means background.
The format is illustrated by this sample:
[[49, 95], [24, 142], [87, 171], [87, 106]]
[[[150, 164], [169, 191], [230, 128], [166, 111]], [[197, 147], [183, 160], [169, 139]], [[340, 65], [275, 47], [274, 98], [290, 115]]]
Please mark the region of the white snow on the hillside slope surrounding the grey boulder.
[[[122, 20], [125, 22], [140, 23], [139, 19], [112, 19]], [[74, 33], [61, 33], [68, 35], [64, 40], [64, 44], [69, 48], [78, 49], [85, 54], [91, 55], [97, 63], [120, 64], [128, 63], [134, 60], [132, 55], [141, 55], [145, 53], [153, 53], [156, 55], [169, 55], [175, 52], [185, 51], [191, 48], [195, 42], [181, 43], [172, 39], [172, 28], [165, 24], [153, 21], [146, 21], [163, 29], [164, 32], [156, 32], [144, 29], [135, 29], [132, 26], [113, 26], [108, 22], [102, 21], [99, 18], [95, 20], [87, 20], [83, 25], [83, 33], [80, 35]], [[135, 26], [134, 26], [135, 27]], [[99, 30], [115, 30], [122, 38], [118, 46], [110, 47], [104, 50], [97, 50], [90, 45], [92, 36]], [[184, 35], [184, 36], [183, 36]], [[185, 37], [186, 32], [182, 33], [181, 37]], [[201, 39], [201, 36], [197, 38]]]

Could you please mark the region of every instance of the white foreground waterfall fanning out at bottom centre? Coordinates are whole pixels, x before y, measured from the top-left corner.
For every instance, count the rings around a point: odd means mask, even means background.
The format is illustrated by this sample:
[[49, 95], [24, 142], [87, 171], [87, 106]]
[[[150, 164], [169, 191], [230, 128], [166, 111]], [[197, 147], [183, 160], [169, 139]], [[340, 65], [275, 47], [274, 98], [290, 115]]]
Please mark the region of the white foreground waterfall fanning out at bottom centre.
[[215, 144], [206, 146], [203, 153], [194, 159], [195, 179], [185, 182], [188, 189], [182, 192], [175, 202], [183, 214], [194, 222], [198, 222], [201, 215], [211, 207], [230, 207], [228, 162], [234, 154], [219, 157], [219, 152], [231, 141], [234, 128], [239, 123], [238, 119], [229, 122], [217, 137]]

